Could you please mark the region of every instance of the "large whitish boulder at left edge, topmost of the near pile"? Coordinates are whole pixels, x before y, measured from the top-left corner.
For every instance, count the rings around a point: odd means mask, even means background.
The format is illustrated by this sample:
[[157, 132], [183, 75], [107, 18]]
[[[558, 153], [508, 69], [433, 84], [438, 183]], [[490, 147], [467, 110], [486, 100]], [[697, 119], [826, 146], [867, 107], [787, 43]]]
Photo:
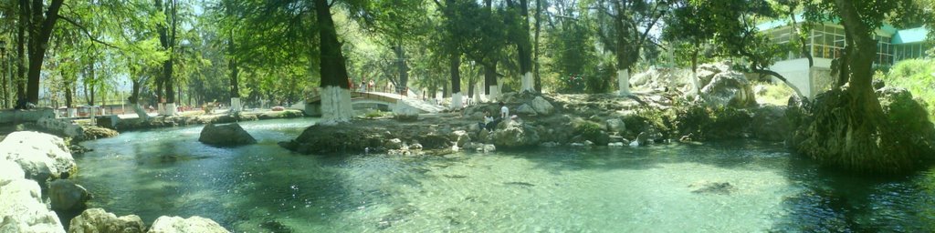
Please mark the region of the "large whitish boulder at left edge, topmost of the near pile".
[[35, 131], [15, 131], [0, 142], [0, 159], [18, 163], [27, 179], [45, 184], [50, 178], [67, 177], [76, 171], [62, 138]]

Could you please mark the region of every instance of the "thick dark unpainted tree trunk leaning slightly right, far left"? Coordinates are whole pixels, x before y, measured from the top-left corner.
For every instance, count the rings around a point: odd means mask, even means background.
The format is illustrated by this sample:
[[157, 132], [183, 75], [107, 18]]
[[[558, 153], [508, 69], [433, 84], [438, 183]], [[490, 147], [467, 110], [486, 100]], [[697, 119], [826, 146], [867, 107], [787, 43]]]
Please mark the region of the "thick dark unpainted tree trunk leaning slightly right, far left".
[[30, 103], [39, 103], [39, 75], [42, 62], [45, 60], [46, 48], [49, 47], [49, 38], [55, 21], [58, 21], [58, 11], [63, 0], [52, 0], [45, 17], [42, 16], [42, 0], [33, 0], [33, 25], [36, 31], [30, 34], [29, 41], [29, 71], [27, 73], [26, 96]]

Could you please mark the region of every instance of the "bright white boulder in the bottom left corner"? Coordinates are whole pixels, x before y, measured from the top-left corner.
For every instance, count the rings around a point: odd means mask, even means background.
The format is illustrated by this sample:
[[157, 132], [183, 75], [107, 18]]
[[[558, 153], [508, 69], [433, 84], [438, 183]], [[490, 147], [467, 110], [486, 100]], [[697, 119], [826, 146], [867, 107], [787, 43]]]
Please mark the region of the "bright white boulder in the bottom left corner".
[[15, 179], [0, 185], [0, 232], [62, 232], [58, 215], [42, 202], [36, 181]]

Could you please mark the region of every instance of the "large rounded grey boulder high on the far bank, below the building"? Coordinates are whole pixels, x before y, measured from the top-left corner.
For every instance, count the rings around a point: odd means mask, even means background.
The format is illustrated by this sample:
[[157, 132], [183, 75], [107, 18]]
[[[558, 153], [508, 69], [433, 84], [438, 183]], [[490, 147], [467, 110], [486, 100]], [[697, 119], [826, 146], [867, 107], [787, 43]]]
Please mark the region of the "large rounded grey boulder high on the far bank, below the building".
[[750, 81], [736, 71], [714, 75], [711, 82], [701, 89], [701, 99], [713, 107], [745, 108], [756, 104]]

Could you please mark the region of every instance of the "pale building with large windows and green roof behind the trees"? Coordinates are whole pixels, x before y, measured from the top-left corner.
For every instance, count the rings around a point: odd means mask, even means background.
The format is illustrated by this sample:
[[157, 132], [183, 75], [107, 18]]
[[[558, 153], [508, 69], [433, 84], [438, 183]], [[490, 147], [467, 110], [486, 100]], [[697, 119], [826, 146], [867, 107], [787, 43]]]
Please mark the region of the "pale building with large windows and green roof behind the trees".
[[[802, 21], [800, 16], [796, 21]], [[785, 21], [770, 21], [757, 25], [760, 32], [768, 34], [773, 43], [789, 43], [795, 39], [796, 32]], [[924, 27], [899, 29], [892, 25], [884, 25], [876, 30], [877, 57], [874, 65], [890, 66], [901, 60], [921, 58], [926, 51], [932, 48], [925, 43], [928, 29]], [[844, 50], [844, 28], [834, 22], [816, 25], [809, 32], [806, 41], [812, 51], [813, 67], [809, 69], [809, 61], [798, 52], [789, 52], [787, 56], [774, 63], [770, 69], [783, 75], [802, 94], [812, 98], [824, 90], [830, 89], [834, 79], [830, 76], [831, 61], [841, 57]]]

